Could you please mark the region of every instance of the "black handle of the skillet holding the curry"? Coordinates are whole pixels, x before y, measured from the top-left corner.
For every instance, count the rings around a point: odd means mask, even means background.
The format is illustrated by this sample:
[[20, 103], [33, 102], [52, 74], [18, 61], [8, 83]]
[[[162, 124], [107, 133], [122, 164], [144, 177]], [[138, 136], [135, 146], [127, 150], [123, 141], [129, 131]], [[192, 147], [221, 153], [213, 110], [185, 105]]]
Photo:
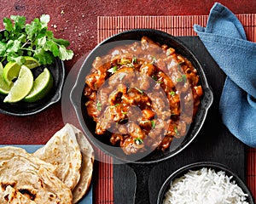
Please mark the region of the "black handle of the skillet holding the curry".
[[136, 174], [136, 191], [134, 196], [134, 204], [149, 204], [148, 178], [153, 164], [128, 164]]

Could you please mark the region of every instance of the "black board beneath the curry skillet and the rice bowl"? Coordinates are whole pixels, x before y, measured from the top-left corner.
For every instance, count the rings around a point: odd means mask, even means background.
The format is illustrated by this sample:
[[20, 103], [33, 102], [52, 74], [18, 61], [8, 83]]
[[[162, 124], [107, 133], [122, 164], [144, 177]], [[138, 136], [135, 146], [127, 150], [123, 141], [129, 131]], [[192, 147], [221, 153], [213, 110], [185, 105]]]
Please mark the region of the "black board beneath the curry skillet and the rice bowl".
[[[126, 164], [113, 166], [114, 203], [135, 203], [135, 190], [139, 190], [137, 203], [154, 204], [161, 185], [179, 167], [197, 161], [217, 161], [246, 180], [247, 147], [224, 126], [218, 111], [225, 75], [207, 52], [199, 37], [180, 37], [201, 61], [213, 92], [213, 103], [201, 132], [189, 146], [166, 161], [154, 164]], [[136, 176], [137, 175], [137, 176]], [[137, 186], [137, 187], [136, 187]]]

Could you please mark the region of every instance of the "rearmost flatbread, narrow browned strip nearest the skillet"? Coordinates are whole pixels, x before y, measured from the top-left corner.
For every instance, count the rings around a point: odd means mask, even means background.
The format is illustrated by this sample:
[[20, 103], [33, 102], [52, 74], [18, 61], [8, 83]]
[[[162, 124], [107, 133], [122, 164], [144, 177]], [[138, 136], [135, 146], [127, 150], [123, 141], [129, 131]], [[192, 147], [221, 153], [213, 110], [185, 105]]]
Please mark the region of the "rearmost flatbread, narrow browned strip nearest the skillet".
[[86, 194], [90, 187], [93, 171], [94, 151], [84, 134], [77, 127], [72, 125], [70, 126], [73, 127], [73, 131], [79, 143], [83, 158], [79, 184], [77, 184], [75, 189], [72, 191], [73, 203], [77, 203]]

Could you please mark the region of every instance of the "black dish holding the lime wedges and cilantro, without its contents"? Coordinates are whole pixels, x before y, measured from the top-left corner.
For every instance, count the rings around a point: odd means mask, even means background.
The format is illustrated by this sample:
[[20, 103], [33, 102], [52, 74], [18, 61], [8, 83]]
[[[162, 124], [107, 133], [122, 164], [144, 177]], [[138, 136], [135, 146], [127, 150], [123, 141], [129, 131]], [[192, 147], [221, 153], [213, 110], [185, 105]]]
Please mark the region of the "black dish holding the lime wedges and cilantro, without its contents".
[[0, 113], [10, 116], [30, 116], [40, 111], [45, 110], [49, 105], [55, 104], [61, 99], [61, 89], [64, 83], [65, 67], [61, 59], [55, 59], [52, 65], [41, 65], [40, 67], [32, 69], [32, 72], [37, 76], [40, 72], [47, 67], [54, 79], [53, 88], [44, 99], [40, 99], [34, 103], [26, 103], [20, 101], [17, 103], [3, 103], [5, 95], [0, 94]]

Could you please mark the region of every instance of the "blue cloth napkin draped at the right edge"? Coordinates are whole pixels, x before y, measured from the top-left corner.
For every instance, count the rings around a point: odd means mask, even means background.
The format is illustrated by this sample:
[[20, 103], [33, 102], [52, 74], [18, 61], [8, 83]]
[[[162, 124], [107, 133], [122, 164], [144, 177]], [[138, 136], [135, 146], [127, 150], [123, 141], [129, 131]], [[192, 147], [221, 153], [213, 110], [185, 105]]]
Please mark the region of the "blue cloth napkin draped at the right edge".
[[207, 27], [194, 30], [227, 75], [219, 102], [224, 125], [256, 147], [256, 43], [247, 41], [241, 22], [220, 3], [212, 7]]

